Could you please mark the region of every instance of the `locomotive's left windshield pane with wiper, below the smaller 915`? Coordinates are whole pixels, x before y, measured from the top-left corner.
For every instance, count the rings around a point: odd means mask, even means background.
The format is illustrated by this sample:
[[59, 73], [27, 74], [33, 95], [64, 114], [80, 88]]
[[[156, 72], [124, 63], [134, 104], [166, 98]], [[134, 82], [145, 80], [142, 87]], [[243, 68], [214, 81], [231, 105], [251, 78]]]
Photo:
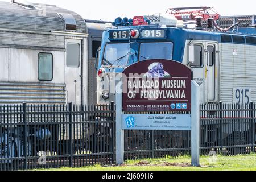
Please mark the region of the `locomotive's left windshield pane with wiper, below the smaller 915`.
[[106, 67], [125, 67], [128, 62], [130, 43], [107, 44], [102, 65]]

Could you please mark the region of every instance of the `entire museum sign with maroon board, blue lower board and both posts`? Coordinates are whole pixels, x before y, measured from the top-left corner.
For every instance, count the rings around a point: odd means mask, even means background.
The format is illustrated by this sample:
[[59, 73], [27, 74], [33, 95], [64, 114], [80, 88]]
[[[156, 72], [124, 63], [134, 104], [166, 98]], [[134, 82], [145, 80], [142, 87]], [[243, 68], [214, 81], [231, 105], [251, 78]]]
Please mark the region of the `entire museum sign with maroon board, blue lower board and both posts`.
[[[191, 131], [192, 166], [199, 166], [199, 94], [191, 70], [176, 61], [146, 60], [126, 68], [122, 93], [115, 94], [117, 163], [124, 162], [124, 130], [187, 130]], [[148, 114], [151, 111], [159, 114]], [[163, 111], [191, 114], [160, 114]]]

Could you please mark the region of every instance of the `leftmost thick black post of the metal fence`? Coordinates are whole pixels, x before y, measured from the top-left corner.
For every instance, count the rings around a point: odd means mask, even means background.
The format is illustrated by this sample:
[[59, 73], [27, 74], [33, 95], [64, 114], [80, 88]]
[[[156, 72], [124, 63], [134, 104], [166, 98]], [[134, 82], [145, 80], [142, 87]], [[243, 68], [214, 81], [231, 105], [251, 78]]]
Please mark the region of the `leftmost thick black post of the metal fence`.
[[24, 123], [24, 133], [23, 133], [23, 152], [24, 152], [24, 156], [25, 156], [25, 162], [24, 162], [24, 169], [27, 170], [27, 163], [28, 163], [28, 159], [27, 159], [27, 103], [23, 102], [22, 104], [22, 119], [23, 119], [23, 123]]

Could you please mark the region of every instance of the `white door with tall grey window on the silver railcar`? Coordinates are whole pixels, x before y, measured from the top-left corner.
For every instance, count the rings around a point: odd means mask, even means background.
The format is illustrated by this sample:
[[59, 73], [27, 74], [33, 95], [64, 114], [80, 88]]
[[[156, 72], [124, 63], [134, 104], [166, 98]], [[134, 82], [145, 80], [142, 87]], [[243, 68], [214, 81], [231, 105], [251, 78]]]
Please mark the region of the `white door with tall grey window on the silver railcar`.
[[66, 39], [65, 83], [67, 102], [81, 104], [81, 46], [82, 41]]

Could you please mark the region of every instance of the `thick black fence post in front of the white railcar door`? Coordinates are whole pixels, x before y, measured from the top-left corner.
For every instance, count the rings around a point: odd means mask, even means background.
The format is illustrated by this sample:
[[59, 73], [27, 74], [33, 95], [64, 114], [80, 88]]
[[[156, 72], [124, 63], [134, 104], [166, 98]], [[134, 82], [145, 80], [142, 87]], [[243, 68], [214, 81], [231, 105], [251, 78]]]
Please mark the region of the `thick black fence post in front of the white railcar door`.
[[73, 126], [72, 126], [72, 102], [68, 102], [68, 123], [69, 123], [69, 167], [73, 167]]

